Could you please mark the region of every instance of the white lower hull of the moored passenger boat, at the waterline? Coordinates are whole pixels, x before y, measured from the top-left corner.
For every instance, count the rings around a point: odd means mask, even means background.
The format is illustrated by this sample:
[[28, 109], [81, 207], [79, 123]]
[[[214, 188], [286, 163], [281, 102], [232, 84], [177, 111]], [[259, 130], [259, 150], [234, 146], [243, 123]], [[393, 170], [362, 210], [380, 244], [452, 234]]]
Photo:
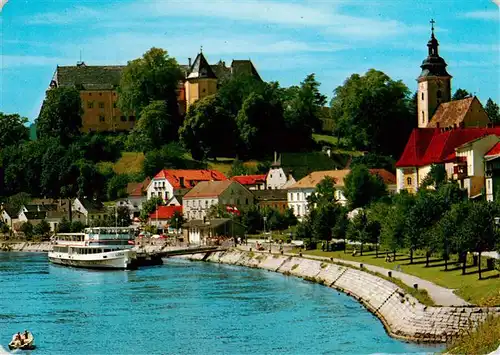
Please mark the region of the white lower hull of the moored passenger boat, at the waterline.
[[136, 253], [132, 250], [95, 254], [94, 258], [79, 258], [75, 255], [54, 252], [49, 253], [48, 257], [53, 264], [87, 269], [131, 270], [137, 268]]

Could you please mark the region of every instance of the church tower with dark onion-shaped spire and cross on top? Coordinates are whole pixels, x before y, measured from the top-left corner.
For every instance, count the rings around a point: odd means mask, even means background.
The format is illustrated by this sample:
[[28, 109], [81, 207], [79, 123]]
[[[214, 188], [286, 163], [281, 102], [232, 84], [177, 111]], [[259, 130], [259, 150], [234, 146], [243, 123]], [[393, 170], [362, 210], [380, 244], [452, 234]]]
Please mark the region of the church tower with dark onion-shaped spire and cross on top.
[[442, 102], [451, 100], [451, 78], [446, 62], [438, 54], [439, 43], [434, 36], [434, 20], [431, 20], [431, 39], [427, 42], [429, 54], [420, 66], [418, 81], [418, 127], [425, 128]]

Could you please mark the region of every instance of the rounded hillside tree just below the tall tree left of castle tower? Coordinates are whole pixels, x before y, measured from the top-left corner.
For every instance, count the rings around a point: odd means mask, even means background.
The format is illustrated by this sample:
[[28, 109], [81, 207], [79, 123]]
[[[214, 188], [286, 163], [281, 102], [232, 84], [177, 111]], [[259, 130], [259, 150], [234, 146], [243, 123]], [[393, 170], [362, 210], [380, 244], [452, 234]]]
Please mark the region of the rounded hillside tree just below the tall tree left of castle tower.
[[145, 106], [134, 129], [130, 132], [127, 148], [149, 152], [178, 139], [180, 122], [172, 117], [165, 101], [153, 101]]

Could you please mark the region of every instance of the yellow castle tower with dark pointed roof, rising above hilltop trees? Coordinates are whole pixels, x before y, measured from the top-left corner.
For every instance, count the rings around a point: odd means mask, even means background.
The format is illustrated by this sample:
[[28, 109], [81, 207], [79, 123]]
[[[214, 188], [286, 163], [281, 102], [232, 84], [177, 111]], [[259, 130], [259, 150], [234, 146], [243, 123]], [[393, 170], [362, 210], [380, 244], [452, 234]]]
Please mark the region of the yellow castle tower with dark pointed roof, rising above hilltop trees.
[[196, 100], [217, 92], [217, 76], [208, 64], [203, 52], [196, 56], [193, 65], [189, 68], [189, 74], [184, 84], [186, 92], [186, 106]]

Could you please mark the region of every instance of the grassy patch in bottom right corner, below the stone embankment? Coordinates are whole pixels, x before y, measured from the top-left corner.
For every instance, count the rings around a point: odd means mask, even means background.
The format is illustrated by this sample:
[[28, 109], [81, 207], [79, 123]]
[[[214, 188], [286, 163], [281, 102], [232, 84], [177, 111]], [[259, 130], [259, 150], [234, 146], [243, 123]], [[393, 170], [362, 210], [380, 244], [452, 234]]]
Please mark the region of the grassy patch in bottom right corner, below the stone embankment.
[[463, 334], [446, 349], [449, 354], [489, 354], [500, 346], [500, 317], [490, 318], [475, 331]]

